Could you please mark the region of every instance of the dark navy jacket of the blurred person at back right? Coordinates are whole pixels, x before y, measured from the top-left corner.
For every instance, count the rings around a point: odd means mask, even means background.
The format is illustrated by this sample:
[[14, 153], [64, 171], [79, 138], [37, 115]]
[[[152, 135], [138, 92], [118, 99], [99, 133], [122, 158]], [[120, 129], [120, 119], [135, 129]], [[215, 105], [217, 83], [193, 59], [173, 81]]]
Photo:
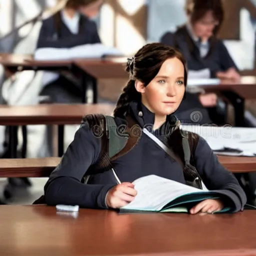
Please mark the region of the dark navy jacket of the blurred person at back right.
[[164, 44], [178, 48], [184, 55], [190, 70], [209, 68], [211, 77], [215, 77], [218, 71], [225, 71], [230, 67], [237, 69], [225, 45], [217, 38], [209, 39], [209, 51], [205, 57], [201, 57], [199, 49], [190, 37], [185, 25], [178, 28], [174, 33], [165, 33], [160, 40]]

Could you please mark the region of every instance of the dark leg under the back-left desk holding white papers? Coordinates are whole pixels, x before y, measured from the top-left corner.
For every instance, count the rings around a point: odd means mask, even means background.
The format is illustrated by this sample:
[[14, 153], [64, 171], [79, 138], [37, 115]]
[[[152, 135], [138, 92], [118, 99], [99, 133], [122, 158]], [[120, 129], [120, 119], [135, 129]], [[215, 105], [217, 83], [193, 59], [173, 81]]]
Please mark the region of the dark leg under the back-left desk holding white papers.
[[[88, 92], [92, 91], [92, 102], [88, 102]], [[97, 103], [97, 80], [87, 74], [82, 75], [82, 103]]]

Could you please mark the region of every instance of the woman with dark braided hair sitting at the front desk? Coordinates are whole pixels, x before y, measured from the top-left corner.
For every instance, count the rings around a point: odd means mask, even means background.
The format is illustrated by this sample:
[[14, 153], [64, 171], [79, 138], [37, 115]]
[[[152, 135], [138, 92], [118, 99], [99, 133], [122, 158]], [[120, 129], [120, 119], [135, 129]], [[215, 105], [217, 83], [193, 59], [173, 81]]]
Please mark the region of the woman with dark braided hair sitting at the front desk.
[[[195, 169], [188, 163], [182, 168], [148, 134], [141, 132], [136, 136], [134, 132], [135, 136], [132, 135], [134, 124], [140, 131], [147, 127], [147, 131], [165, 146], [173, 151], [179, 150], [180, 136], [177, 134], [181, 131], [173, 113], [184, 97], [187, 81], [186, 63], [181, 53], [161, 43], [146, 44], [128, 60], [126, 70], [130, 80], [117, 101], [114, 121], [117, 127], [128, 122], [128, 127], [131, 127], [128, 141], [134, 143], [131, 139], [137, 138], [134, 146], [117, 159], [112, 158], [108, 165], [105, 154], [100, 153], [104, 147], [102, 136], [95, 136], [95, 126], [90, 126], [90, 121], [84, 119], [60, 164], [45, 184], [45, 202], [49, 205], [77, 204], [85, 208], [119, 208], [136, 196], [131, 183], [136, 178], [155, 174], [185, 183], [198, 172], [208, 189], [226, 191], [232, 198], [234, 211], [241, 210], [246, 201], [243, 190], [234, 176], [218, 162], [203, 138], [197, 137], [192, 152]], [[98, 164], [100, 160], [102, 165]], [[97, 173], [81, 182], [85, 175], [96, 169], [97, 164]], [[203, 200], [190, 213], [211, 213], [223, 206], [221, 200]]]

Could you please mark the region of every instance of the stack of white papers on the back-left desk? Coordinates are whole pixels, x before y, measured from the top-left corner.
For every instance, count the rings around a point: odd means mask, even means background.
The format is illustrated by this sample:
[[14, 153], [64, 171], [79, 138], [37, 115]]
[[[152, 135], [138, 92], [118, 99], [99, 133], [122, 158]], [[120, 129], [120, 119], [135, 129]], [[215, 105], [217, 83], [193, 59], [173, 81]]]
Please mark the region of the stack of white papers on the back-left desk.
[[103, 55], [119, 56], [123, 53], [101, 43], [84, 44], [72, 48], [39, 48], [35, 50], [36, 60], [66, 60], [72, 58], [101, 58]]

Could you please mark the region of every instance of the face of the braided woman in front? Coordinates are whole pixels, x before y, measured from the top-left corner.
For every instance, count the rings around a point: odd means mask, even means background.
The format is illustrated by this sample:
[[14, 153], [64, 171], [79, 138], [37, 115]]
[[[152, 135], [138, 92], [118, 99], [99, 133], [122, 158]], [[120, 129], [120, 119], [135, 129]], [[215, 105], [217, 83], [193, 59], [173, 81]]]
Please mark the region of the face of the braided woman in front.
[[142, 103], [151, 112], [160, 116], [171, 114], [184, 96], [184, 66], [178, 58], [168, 58], [147, 86], [140, 81], [135, 86]]

